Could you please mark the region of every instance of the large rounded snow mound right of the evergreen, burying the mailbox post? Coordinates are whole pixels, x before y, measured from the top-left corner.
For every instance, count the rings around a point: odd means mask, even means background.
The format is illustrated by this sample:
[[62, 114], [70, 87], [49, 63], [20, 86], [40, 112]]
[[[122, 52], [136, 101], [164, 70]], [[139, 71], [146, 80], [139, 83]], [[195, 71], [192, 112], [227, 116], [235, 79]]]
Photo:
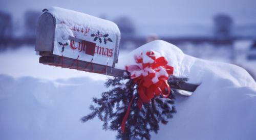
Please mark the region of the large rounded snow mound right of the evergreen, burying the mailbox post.
[[177, 95], [177, 114], [152, 139], [256, 139], [256, 83], [246, 70], [191, 57], [161, 40], [123, 56], [117, 67], [136, 64], [134, 55], [149, 50], [165, 57], [175, 76], [200, 85], [192, 96]]

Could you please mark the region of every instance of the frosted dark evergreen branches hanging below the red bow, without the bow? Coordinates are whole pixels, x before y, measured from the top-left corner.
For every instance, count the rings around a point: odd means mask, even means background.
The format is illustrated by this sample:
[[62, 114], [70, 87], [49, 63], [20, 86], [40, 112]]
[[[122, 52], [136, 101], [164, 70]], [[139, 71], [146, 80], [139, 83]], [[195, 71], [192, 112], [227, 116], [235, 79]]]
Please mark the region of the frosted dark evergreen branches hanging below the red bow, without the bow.
[[[184, 82], [187, 78], [170, 77], [169, 84]], [[81, 118], [81, 122], [87, 122], [96, 116], [103, 122], [104, 130], [117, 131], [117, 139], [150, 139], [150, 132], [157, 133], [159, 123], [167, 124], [168, 119], [173, 118], [176, 108], [173, 105], [175, 90], [172, 90], [168, 98], [154, 97], [150, 102], [144, 103], [140, 110], [137, 106], [139, 99], [136, 90], [137, 85], [129, 76], [109, 78], [104, 83], [108, 92], [103, 92], [101, 98], [93, 98], [96, 106], [91, 105], [91, 113]], [[121, 131], [121, 122], [127, 107], [134, 96], [130, 115], [126, 120], [125, 132]]]

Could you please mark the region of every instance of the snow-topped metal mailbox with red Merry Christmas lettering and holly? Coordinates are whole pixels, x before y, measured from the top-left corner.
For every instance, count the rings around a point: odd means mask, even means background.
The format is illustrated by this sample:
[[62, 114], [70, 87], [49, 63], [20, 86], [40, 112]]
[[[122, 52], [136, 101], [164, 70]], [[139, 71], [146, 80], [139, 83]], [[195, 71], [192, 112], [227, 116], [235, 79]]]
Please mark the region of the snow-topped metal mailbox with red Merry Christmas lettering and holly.
[[35, 45], [40, 63], [106, 73], [115, 67], [120, 31], [114, 22], [58, 7], [43, 11]]

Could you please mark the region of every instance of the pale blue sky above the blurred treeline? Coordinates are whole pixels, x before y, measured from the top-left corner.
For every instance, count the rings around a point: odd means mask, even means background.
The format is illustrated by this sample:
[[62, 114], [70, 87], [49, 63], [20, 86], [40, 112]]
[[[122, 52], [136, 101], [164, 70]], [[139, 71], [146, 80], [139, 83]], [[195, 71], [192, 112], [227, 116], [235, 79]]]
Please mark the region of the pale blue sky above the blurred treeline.
[[0, 10], [10, 12], [14, 20], [23, 17], [26, 10], [41, 11], [44, 8], [57, 6], [94, 16], [106, 16], [112, 20], [126, 15], [138, 25], [143, 24], [211, 24], [212, 16], [226, 13], [233, 17], [236, 24], [256, 23], [255, 0], [1, 0]]

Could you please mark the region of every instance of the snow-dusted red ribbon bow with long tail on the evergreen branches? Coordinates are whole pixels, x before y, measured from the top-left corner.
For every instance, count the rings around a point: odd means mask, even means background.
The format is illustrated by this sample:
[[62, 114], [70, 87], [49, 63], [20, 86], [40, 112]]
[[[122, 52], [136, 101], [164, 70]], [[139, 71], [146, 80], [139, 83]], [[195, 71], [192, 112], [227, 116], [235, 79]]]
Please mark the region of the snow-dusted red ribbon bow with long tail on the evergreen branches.
[[[144, 58], [144, 62], [143, 62]], [[156, 59], [153, 51], [147, 51], [145, 55], [141, 53], [135, 56], [137, 65], [126, 66], [126, 71], [131, 73], [131, 79], [137, 83], [139, 99], [137, 105], [142, 108], [143, 103], [150, 101], [154, 96], [167, 98], [170, 95], [170, 87], [167, 83], [169, 75], [173, 74], [174, 68], [167, 65], [168, 61], [164, 57]], [[122, 120], [121, 130], [125, 130], [125, 122], [130, 114], [132, 98]]]

